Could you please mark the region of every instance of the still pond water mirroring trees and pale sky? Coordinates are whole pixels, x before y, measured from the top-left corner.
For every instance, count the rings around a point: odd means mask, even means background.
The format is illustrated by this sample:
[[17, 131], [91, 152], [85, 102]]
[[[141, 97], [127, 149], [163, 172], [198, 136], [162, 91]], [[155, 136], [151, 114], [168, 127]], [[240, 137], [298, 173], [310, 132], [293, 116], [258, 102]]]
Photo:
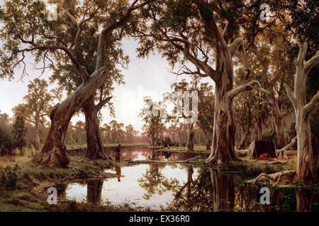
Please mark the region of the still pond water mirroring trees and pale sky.
[[[113, 156], [113, 150], [107, 154]], [[194, 155], [164, 153], [147, 148], [124, 148], [125, 160], [184, 160]], [[270, 205], [259, 203], [261, 185], [247, 185], [240, 174], [191, 165], [143, 164], [115, 167], [111, 179], [68, 184], [66, 197], [78, 202], [128, 205], [133, 208], [171, 211], [315, 211], [318, 189], [267, 186]], [[264, 185], [265, 186], [265, 185]]]

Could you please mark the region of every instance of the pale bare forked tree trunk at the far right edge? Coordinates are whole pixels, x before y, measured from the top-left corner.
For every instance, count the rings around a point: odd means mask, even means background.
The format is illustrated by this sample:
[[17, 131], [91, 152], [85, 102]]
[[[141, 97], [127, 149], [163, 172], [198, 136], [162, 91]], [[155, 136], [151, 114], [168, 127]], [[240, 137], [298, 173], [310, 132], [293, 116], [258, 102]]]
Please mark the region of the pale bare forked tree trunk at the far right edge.
[[319, 92], [306, 104], [306, 81], [308, 72], [319, 64], [319, 51], [308, 61], [304, 61], [307, 44], [298, 43], [299, 54], [295, 61], [296, 74], [294, 92], [284, 84], [287, 95], [293, 103], [296, 114], [296, 132], [298, 145], [298, 162], [295, 181], [306, 181], [311, 176], [314, 182], [318, 181], [318, 165], [311, 146], [310, 114], [318, 109]]

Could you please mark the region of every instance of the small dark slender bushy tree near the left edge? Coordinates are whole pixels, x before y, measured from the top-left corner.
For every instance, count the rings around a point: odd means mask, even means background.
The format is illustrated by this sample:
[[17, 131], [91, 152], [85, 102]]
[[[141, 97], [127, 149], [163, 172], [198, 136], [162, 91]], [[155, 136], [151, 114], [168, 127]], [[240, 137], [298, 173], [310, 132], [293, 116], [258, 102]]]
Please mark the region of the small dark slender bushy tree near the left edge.
[[13, 123], [13, 147], [20, 150], [20, 155], [23, 154], [23, 146], [26, 145], [26, 128], [24, 127], [24, 119], [18, 115]]

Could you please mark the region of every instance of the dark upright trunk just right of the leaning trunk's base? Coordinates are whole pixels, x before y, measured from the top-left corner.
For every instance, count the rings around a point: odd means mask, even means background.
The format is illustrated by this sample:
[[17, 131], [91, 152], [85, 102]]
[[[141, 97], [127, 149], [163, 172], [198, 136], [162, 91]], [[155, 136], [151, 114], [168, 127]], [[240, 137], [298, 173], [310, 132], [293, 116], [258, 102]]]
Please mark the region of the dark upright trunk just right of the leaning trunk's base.
[[99, 119], [96, 105], [94, 100], [90, 97], [83, 105], [85, 114], [85, 129], [86, 129], [86, 158], [90, 160], [104, 159], [103, 141], [101, 138]]

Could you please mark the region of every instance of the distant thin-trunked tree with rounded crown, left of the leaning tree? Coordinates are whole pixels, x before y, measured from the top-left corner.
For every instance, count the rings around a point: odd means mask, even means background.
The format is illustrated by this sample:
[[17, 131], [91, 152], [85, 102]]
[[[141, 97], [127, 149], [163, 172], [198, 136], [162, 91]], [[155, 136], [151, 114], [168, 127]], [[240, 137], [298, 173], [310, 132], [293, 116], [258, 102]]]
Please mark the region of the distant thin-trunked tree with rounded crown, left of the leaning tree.
[[28, 95], [23, 97], [24, 103], [13, 107], [16, 115], [21, 115], [23, 119], [35, 126], [35, 150], [40, 150], [40, 124], [45, 122], [55, 100], [54, 90], [47, 90], [47, 81], [35, 78], [28, 84]]

